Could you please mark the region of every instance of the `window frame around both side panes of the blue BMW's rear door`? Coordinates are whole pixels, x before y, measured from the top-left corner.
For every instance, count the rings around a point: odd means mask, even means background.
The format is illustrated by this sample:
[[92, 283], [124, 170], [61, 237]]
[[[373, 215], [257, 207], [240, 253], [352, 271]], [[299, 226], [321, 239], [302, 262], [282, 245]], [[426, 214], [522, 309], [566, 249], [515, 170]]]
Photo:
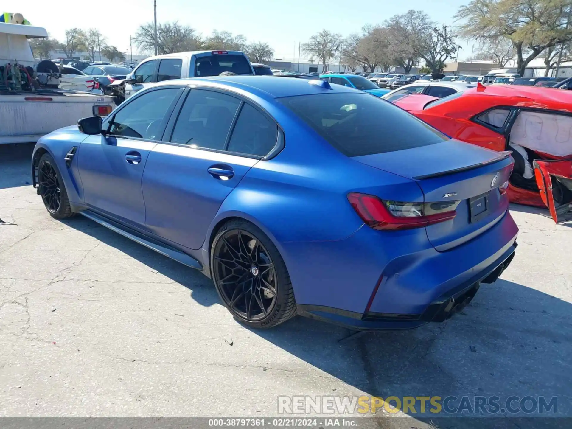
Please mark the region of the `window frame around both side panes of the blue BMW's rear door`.
[[[160, 88], [164, 88], [164, 87], [160, 87]], [[183, 106], [186, 98], [189, 96], [189, 93], [193, 89], [201, 89], [201, 90], [207, 90], [207, 91], [212, 91], [212, 92], [218, 92], [218, 93], [225, 94], [225, 95], [233, 97], [233, 98], [237, 98], [237, 100], [239, 100], [241, 102], [239, 105], [239, 108], [236, 110], [235, 117], [233, 118], [233, 121], [231, 123], [231, 127], [229, 128], [229, 132], [227, 134], [227, 140], [225, 141], [224, 148], [228, 148], [228, 145], [230, 144], [232, 133], [235, 130], [236, 121], [239, 118], [240, 112], [242, 112], [244, 104], [249, 104], [252, 108], [258, 110], [266, 118], [268, 118], [274, 124], [276, 124], [277, 133], [276, 133], [276, 144], [274, 145], [274, 147], [265, 156], [260, 156], [260, 155], [252, 155], [252, 154], [241, 153], [241, 152], [231, 152], [230, 150], [225, 150], [225, 149], [221, 150], [221, 149], [200, 148], [200, 147], [192, 148], [192, 147], [190, 147], [190, 145], [185, 145], [182, 143], [176, 143], [176, 142], [170, 141], [171, 138], [173, 137], [174, 127], [177, 124], [178, 117], [181, 114], [182, 106]], [[214, 86], [209, 86], [209, 85], [196, 85], [196, 84], [188, 84], [188, 86], [185, 88], [185, 92], [179, 98], [177, 105], [174, 107], [174, 111], [171, 113], [171, 117], [169, 118], [169, 121], [167, 122], [167, 125], [165, 127], [164, 132], [163, 132], [162, 138], [163, 138], [163, 140], [160, 141], [161, 144], [167, 144], [167, 145], [173, 145], [173, 146], [182, 146], [182, 147], [188, 148], [190, 150], [206, 150], [208, 152], [225, 153], [225, 154], [229, 154], [229, 155], [233, 155], [233, 156], [252, 158], [252, 159], [261, 160], [261, 161], [271, 160], [277, 154], [282, 152], [282, 150], [284, 149], [284, 147], [286, 145], [286, 142], [285, 142], [286, 138], [284, 135], [284, 130], [281, 128], [280, 124], [275, 120], [275, 118], [273, 118], [273, 116], [270, 113], [268, 113], [268, 111], [266, 109], [264, 109], [262, 106], [257, 104], [255, 101], [252, 101], [249, 98], [244, 97], [242, 94], [235, 93], [233, 91], [229, 91], [229, 90], [225, 90], [225, 89], [221, 89], [221, 88], [216, 88]]]

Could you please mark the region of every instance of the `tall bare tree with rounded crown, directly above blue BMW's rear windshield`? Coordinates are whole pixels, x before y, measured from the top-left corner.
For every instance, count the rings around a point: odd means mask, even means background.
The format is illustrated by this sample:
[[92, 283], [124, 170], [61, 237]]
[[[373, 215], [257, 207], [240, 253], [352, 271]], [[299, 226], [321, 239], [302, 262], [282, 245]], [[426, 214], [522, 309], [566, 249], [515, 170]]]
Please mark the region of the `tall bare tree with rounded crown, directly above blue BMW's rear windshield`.
[[390, 48], [395, 64], [409, 73], [419, 62], [423, 39], [430, 37], [429, 16], [420, 10], [408, 10], [403, 15], [391, 17], [386, 26], [390, 31]]

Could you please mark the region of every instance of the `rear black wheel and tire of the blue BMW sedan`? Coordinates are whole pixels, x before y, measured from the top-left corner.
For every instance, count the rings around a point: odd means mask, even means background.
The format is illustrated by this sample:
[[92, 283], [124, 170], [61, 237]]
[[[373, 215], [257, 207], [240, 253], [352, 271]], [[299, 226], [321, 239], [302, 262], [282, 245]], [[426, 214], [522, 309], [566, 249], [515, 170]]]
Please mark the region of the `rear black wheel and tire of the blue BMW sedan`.
[[[242, 219], [225, 223], [210, 248], [210, 269], [221, 301], [240, 323], [251, 328], [272, 328], [296, 314], [284, 260], [272, 240], [256, 225]], [[253, 314], [256, 308], [260, 312]]]

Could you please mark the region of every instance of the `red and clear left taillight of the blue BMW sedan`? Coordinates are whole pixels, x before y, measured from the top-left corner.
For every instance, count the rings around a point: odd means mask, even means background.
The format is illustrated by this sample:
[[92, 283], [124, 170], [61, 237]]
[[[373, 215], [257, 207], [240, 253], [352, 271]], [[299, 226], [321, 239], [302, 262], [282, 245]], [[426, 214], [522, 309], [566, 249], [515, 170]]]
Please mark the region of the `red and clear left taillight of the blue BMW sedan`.
[[386, 230], [422, 228], [451, 220], [460, 202], [383, 201], [358, 192], [349, 193], [348, 201], [367, 225]]

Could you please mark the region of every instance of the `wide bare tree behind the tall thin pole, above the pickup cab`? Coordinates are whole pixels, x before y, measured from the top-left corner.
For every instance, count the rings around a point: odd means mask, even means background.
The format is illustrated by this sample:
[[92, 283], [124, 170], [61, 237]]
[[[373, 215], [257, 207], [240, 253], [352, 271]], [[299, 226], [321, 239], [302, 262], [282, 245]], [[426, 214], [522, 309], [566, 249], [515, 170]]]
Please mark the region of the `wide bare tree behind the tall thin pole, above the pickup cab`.
[[[155, 33], [152, 22], [139, 26], [134, 42], [141, 51], [154, 51]], [[192, 51], [201, 47], [201, 40], [188, 25], [166, 22], [157, 25], [157, 47], [158, 54]]]

